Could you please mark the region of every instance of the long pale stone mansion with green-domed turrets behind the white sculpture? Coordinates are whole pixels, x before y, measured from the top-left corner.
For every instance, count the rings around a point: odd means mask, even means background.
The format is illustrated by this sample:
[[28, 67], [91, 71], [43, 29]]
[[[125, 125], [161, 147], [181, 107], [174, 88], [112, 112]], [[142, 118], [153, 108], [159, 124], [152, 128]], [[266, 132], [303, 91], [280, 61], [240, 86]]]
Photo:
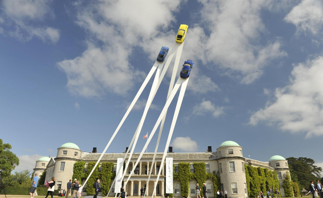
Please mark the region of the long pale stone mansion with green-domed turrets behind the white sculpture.
[[[247, 197], [247, 187], [245, 179], [244, 164], [248, 164], [255, 167], [267, 168], [274, 170], [278, 174], [278, 180], [280, 185], [280, 193], [284, 196], [284, 190], [282, 187], [282, 180], [286, 172], [289, 172], [288, 163], [285, 158], [279, 155], [274, 155], [269, 158], [268, 162], [262, 162], [254, 159], [249, 159], [243, 157], [242, 147], [234, 141], [224, 141], [222, 142], [216, 151], [211, 150], [211, 146], [208, 146], [206, 152], [172, 152], [169, 150], [167, 152], [167, 157], [173, 158], [174, 171], [178, 171], [178, 163], [189, 162], [190, 171], [194, 172], [193, 162], [204, 162], [206, 167], [206, 172], [219, 173], [221, 178], [221, 189], [228, 192], [228, 197]], [[46, 169], [46, 180], [50, 180], [52, 176], [55, 177], [56, 184], [55, 189], [66, 189], [66, 183], [69, 179], [72, 179], [73, 175], [73, 164], [76, 161], [84, 161], [85, 169], [87, 170], [87, 162], [96, 162], [101, 153], [96, 153], [96, 148], [93, 148], [91, 152], [81, 151], [80, 148], [74, 143], [64, 143], [59, 148], [57, 148], [56, 157], [41, 157], [36, 161], [35, 171], [41, 171]], [[126, 175], [124, 181], [129, 175], [129, 171], [135, 164], [135, 161], [140, 153], [134, 153], [132, 159], [130, 159], [129, 167], [125, 170]], [[113, 162], [115, 165], [113, 171], [116, 171], [116, 161], [117, 158], [123, 158], [124, 153], [105, 153], [100, 162]], [[150, 177], [149, 184], [147, 184], [148, 172], [151, 167], [153, 153], [144, 153], [140, 159], [140, 162], [134, 169], [129, 182], [125, 187], [125, 191], [129, 193], [130, 196], [140, 195], [140, 187], [143, 186], [147, 191], [146, 195], [153, 193], [153, 186], [157, 183], [154, 196], [164, 197], [164, 185], [165, 185], [165, 165], [161, 165], [162, 153], [157, 153], [155, 162], [153, 164], [152, 175]], [[45, 166], [43, 166], [43, 163]], [[161, 175], [156, 181], [157, 173], [161, 169]], [[100, 167], [99, 167], [100, 170]], [[82, 181], [84, 182], [84, 181]], [[207, 197], [214, 197], [212, 180], [206, 180]], [[189, 181], [189, 195], [188, 197], [195, 197], [195, 185], [196, 180], [192, 179]], [[201, 183], [200, 183], [201, 185]], [[174, 197], [181, 197], [180, 194], [180, 182], [179, 180], [173, 181], [173, 194]], [[86, 188], [86, 185], [83, 189]], [[114, 187], [109, 196], [114, 196]], [[83, 190], [85, 191], [85, 190]], [[216, 192], [215, 192], [216, 193]], [[216, 195], [215, 195], [216, 196]]]

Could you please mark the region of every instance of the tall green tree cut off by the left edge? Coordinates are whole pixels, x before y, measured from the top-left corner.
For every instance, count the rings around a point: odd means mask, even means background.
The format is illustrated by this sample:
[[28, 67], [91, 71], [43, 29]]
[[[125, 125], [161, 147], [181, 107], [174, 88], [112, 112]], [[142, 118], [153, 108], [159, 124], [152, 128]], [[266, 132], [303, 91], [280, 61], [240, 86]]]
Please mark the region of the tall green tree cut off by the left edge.
[[19, 158], [10, 151], [11, 145], [3, 143], [0, 139], [0, 169], [2, 169], [2, 176], [10, 175], [10, 172], [19, 164]]

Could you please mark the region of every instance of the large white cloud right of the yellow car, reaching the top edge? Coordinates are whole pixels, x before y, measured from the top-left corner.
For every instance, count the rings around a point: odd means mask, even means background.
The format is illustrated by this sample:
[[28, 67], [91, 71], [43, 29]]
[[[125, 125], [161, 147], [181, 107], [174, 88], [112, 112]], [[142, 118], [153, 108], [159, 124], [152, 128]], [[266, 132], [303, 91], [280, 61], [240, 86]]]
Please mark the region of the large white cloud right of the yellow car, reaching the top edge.
[[210, 31], [209, 38], [201, 42], [206, 60], [214, 63], [210, 67], [222, 68], [224, 74], [248, 84], [262, 75], [271, 60], [287, 55], [281, 51], [278, 39], [260, 44], [260, 35], [266, 31], [260, 17], [261, 8], [267, 5], [265, 2], [201, 1], [201, 16]]

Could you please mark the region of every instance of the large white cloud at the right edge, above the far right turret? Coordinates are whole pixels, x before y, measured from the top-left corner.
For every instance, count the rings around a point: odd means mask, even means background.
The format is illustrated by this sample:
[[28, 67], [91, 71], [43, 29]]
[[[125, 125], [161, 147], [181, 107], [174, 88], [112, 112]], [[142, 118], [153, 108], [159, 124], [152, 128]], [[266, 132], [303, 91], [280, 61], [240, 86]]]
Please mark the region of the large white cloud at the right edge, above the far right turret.
[[294, 65], [290, 83], [276, 88], [273, 102], [250, 116], [252, 125], [263, 121], [281, 130], [323, 135], [323, 56]]

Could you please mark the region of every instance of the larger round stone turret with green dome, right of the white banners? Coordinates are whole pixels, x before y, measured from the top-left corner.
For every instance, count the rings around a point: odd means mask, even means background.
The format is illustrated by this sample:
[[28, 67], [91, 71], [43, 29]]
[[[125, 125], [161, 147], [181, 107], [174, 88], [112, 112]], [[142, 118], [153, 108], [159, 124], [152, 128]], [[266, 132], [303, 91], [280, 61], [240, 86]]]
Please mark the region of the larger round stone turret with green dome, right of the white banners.
[[242, 147], [234, 141], [224, 141], [216, 150], [223, 190], [227, 190], [229, 197], [246, 197]]

